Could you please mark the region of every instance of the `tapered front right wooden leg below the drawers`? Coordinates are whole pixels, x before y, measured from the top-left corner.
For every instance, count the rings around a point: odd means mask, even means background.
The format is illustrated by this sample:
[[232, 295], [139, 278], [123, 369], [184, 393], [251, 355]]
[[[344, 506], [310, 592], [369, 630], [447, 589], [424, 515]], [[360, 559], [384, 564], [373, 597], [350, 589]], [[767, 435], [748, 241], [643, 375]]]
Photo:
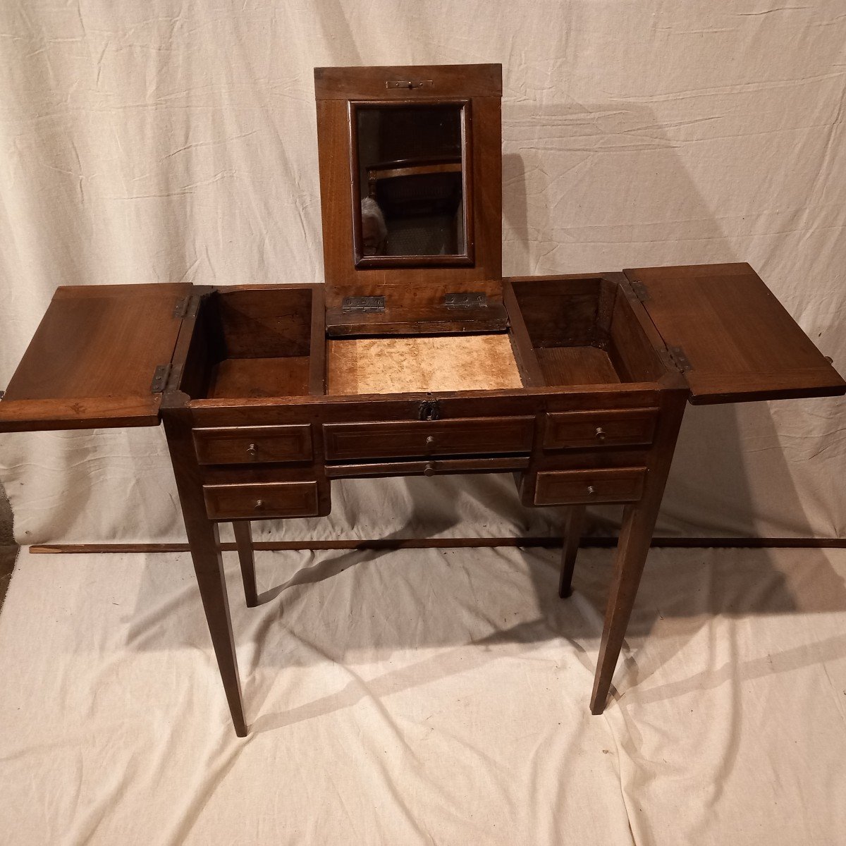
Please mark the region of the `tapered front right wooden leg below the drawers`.
[[629, 617], [634, 607], [634, 596], [640, 585], [640, 574], [646, 563], [646, 553], [652, 541], [652, 530], [658, 514], [659, 503], [640, 503], [630, 505], [624, 511], [623, 528], [614, 559], [614, 575], [608, 605], [605, 612], [605, 625], [602, 629], [602, 641], [599, 646], [599, 659], [596, 664], [596, 677], [591, 695], [591, 713], [602, 714], [611, 687], [614, 668], [623, 646]]

